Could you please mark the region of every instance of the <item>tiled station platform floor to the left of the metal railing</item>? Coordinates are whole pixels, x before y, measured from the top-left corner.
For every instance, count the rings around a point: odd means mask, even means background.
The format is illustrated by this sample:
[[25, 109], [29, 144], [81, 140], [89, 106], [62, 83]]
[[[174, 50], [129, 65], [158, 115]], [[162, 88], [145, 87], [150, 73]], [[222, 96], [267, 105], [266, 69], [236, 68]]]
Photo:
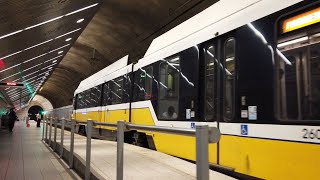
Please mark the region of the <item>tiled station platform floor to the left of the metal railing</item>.
[[0, 129], [1, 180], [81, 179], [43, 142], [41, 129], [17, 121], [13, 132]]

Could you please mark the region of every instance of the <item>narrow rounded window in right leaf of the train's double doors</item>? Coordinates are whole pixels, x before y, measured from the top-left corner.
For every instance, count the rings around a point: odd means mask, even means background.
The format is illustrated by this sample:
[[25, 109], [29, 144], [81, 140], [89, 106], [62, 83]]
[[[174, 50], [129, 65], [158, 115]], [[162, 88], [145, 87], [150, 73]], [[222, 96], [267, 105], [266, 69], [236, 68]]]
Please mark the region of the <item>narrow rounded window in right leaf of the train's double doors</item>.
[[224, 45], [224, 119], [231, 121], [234, 117], [235, 92], [235, 46], [234, 38], [226, 40]]

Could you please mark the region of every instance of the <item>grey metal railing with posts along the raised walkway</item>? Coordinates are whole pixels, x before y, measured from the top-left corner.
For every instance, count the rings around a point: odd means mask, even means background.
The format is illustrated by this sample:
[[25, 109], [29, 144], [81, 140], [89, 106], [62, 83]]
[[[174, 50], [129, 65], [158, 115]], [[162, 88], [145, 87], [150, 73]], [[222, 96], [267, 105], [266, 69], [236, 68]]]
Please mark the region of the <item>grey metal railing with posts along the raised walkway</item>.
[[[196, 175], [198, 180], [208, 180], [209, 179], [209, 157], [208, 149], [209, 143], [217, 143], [220, 140], [220, 131], [215, 127], [208, 127], [208, 125], [197, 125], [195, 129], [183, 129], [183, 128], [171, 128], [171, 127], [157, 127], [157, 126], [143, 126], [125, 123], [124, 121], [118, 121], [117, 123], [100, 123], [93, 120], [88, 120], [87, 123], [79, 122], [76, 120], [67, 121], [65, 119], [54, 119], [49, 118], [49, 120], [43, 121], [43, 134], [42, 139], [47, 141], [48, 124], [49, 129], [49, 140], [48, 144], [51, 146], [51, 134], [52, 126], [54, 121], [54, 141], [53, 150], [56, 151], [56, 136], [57, 136], [57, 126], [58, 121], [61, 121], [61, 141], [60, 141], [60, 157], [63, 156], [63, 140], [64, 140], [64, 130], [66, 122], [70, 122], [71, 136], [70, 136], [70, 152], [69, 152], [69, 167], [73, 168], [73, 155], [74, 155], [74, 133], [76, 124], [87, 126], [87, 143], [86, 143], [86, 169], [85, 169], [85, 179], [90, 179], [90, 168], [91, 168], [91, 138], [92, 129], [94, 126], [106, 126], [114, 127], [117, 129], [117, 180], [123, 180], [123, 144], [124, 144], [124, 132], [130, 130], [140, 130], [148, 132], [160, 132], [169, 133], [175, 135], [192, 136], [196, 137]], [[44, 127], [46, 129], [44, 130]]]

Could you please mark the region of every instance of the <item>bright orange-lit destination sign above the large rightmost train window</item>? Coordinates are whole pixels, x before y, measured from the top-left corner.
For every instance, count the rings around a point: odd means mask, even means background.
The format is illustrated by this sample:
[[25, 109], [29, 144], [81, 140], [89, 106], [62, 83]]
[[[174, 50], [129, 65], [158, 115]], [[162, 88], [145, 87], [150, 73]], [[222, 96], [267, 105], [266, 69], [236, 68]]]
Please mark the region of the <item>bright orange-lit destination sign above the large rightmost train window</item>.
[[320, 8], [302, 13], [286, 19], [282, 25], [282, 32], [290, 32], [320, 22]]

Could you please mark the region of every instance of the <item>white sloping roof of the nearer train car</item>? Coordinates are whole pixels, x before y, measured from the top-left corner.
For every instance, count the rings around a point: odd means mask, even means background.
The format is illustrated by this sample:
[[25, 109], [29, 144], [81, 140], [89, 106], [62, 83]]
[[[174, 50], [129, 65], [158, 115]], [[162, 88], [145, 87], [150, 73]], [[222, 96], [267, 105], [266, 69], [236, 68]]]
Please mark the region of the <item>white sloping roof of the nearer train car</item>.
[[302, 0], [220, 0], [154, 39], [135, 69], [196, 46]]

